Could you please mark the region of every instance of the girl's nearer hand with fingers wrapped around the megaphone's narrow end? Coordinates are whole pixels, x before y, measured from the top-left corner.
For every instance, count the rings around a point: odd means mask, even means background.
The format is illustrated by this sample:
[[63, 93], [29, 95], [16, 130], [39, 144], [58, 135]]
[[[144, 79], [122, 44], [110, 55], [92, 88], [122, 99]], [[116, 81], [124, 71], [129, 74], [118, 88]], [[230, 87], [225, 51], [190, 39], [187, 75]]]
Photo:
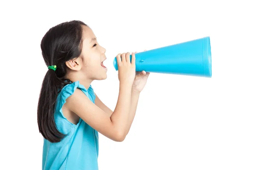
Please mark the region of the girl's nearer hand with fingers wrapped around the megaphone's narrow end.
[[116, 56], [118, 65], [118, 79], [120, 83], [132, 85], [136, 75], [135, 70], [135, 54], [132, 53], [130, 60], [130, 53], [118, 54]]

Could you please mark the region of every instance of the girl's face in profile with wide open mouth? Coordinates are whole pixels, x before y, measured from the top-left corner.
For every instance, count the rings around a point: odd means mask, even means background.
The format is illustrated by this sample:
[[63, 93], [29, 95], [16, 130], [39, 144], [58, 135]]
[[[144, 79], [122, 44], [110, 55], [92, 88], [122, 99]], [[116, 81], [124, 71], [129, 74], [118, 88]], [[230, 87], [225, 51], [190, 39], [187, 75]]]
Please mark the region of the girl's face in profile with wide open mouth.
[[[81, 57], [83, 58], [81, 72], [87, 79], [102, 80], [107, 78], [107, 68], [103, 65], [106, 59], [106, 49], [99, 45], [93, 31], [83, 26], [82, 37], [82, 51]], [[79, 57], [81, 59], [81, 57]]]

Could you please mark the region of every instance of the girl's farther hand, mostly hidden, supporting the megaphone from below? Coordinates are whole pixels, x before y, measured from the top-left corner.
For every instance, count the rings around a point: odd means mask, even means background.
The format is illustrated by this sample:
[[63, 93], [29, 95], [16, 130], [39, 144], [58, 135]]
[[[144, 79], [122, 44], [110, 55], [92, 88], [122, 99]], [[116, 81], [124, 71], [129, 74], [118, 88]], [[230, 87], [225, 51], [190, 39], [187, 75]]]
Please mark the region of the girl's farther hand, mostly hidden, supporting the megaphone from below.
[[[146, 50], [145, 50], [146, 51]], [[137, 52], [135, 52], [136, 54]], [[143, 88], [145, 87], [145, 84], [148, 80], [148, 76], [150, 73], [145, 72], [145, 71], [136, 71], [136, 76], [134, 78], [134, 82], [132, 85], [132, 90], [137, 91], [137, 92], [141, 92], [143, 90]]]

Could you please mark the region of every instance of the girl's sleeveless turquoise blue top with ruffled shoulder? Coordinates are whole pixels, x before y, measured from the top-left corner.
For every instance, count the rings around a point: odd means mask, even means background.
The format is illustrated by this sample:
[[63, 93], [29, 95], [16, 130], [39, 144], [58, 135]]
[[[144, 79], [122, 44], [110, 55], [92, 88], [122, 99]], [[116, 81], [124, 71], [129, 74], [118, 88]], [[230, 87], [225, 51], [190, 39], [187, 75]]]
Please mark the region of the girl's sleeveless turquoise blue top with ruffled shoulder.
[[76, 88], [95, 103], [93, 88], [88, 90], [79, 81], [66, 85], [58, 94], [55, 123], [58, 130], [67, 134], [61, 142], [51, 143], [44, 139], [42, 170], [98, 170], [99, 134], [81, 118], [77, 125], [69, 122], [62, 106]]

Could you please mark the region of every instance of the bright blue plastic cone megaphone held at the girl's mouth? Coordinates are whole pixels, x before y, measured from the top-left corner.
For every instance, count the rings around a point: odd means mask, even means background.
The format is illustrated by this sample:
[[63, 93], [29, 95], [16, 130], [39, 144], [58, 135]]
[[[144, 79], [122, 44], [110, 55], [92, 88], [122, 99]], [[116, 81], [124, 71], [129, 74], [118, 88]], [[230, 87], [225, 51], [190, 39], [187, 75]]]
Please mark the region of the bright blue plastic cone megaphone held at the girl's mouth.
[[[136, 71], [212, 77], [210, 37], [139, 52], [135, 58]], [[113, 65], [117, 71], [116, 57]]]

